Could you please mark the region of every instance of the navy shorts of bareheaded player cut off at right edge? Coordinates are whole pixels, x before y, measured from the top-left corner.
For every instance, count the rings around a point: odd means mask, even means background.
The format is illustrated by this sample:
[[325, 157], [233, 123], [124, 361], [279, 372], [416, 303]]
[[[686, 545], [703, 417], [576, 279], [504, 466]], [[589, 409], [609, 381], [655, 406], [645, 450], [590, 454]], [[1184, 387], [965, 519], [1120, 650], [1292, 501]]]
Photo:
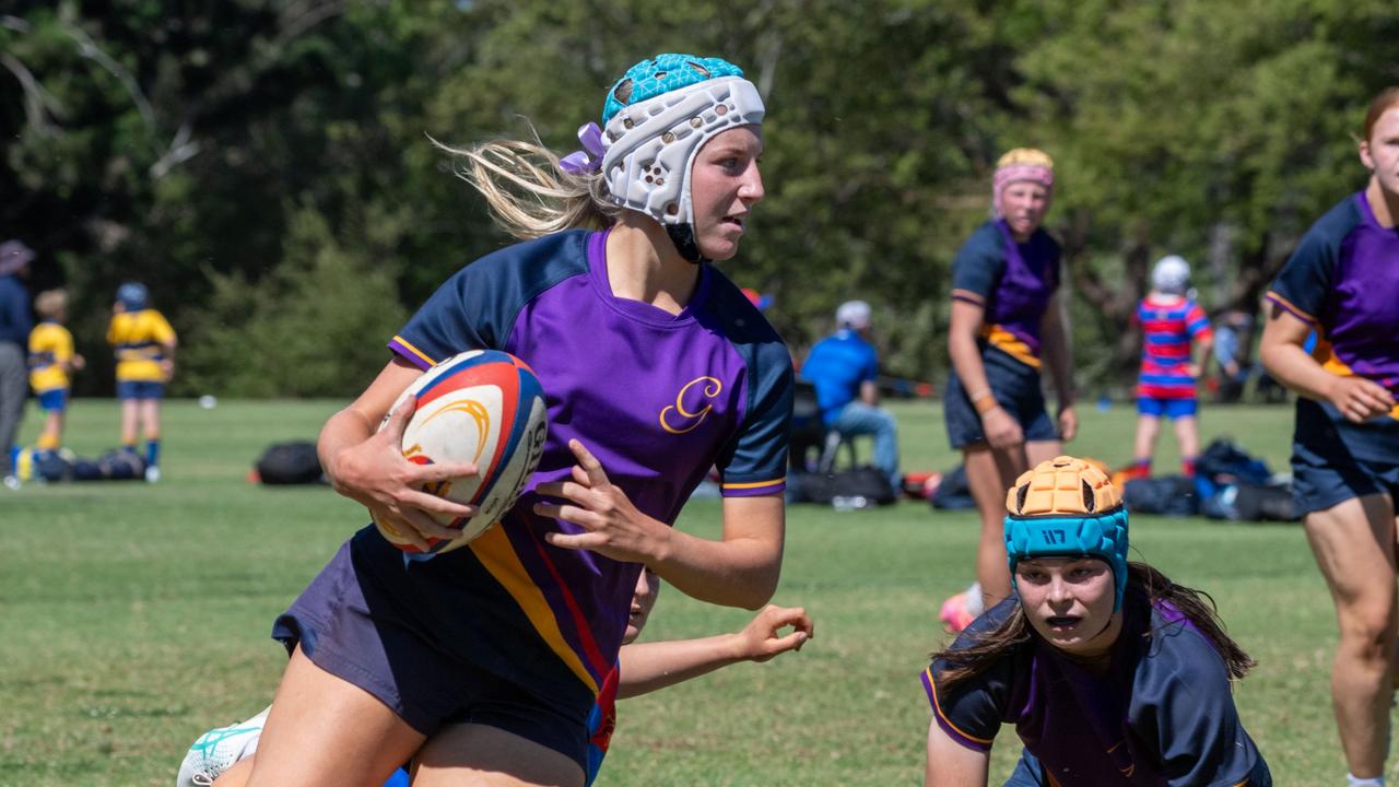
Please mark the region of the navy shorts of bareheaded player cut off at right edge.
[[1353, 497], [1388, 493], [1399, 501], [1399, 420], [1350, 423], [1330, 402], [1297, 399], [1293, 503], [1298, 514]]

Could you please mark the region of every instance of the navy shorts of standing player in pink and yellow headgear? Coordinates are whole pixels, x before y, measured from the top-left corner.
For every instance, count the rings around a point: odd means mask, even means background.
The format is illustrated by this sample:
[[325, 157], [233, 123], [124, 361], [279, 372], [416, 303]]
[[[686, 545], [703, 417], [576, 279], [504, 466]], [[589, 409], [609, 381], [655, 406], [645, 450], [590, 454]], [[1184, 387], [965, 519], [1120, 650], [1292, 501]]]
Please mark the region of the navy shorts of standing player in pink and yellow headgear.
[[[990, 392], [996, 396], [996, 402], [1020, 422], [1025, 443], [1059, 440], [1059, 430], [1045, 410], [1039, 371], [995, 349], [985, 349], [981, 360]], [[947, 391], [943, 394], [943, 419], [947, 422], [947, 440], [953, 448], [986, 443], [986, 433], [981, 430], [981, 416], [967, 398], [967, 388], [956, 371], [947, 378]]]

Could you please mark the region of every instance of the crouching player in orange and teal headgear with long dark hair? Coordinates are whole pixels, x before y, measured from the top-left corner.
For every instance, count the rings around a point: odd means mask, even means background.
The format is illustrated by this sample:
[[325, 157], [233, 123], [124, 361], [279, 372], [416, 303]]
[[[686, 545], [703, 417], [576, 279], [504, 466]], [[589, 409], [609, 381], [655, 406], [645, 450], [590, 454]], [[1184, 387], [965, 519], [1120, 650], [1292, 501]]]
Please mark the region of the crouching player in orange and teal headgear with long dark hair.
[[986, 787], [1014, 724], [1006, 787], [1267, 787], [1231, 693], [1254, 661], [1202, 594], [1128, 563], [1128, 511], [1097, 468], [1039, 464], [1006, 496], [1010, 598], [923, 671], [928, 787]]

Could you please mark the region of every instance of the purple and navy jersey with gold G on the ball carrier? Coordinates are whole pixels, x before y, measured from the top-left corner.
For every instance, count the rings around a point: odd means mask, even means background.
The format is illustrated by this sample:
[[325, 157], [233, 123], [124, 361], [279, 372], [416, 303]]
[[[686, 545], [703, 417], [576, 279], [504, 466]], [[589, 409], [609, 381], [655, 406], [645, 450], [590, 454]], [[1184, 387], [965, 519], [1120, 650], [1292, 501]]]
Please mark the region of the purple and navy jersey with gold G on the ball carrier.
[[550, 531], [579, 528], [536, 515], [534, 487], [569, 478], [578, 438], [637, 508], [667, 524], [711, 466], [725, 496], [779, 494], [793, 377], [776, 332], [708, 265], [679, 315], [614, 297], [606, 238], [575, 230], [487, 255], [389, 343], [422, 368], [471, 349], [525, 360], [544, 388], [548, 438], [501, 527], [431, 560], [376, 566], [385, 581], [421, 567], [460, 588], [424, 604], [466, 658], [541, 692], [582, 686], [589, 704], [617, 661], [641, 566], [547, 543]]

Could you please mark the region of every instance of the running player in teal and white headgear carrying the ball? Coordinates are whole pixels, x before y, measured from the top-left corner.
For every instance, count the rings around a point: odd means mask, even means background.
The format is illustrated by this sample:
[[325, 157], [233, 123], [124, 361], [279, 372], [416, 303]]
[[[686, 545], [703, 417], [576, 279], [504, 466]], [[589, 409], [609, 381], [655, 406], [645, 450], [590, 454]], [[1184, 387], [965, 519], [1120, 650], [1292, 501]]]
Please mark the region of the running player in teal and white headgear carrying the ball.
[[[467, 548], [407, 556], [374, 527], [341, 546], [274, 625], [291, 661], [250, 784], [381, 784], [410, 758], [417, 784], [582, 784], [588, 716], [642, 569], [702, 601], [768, 601], [792, 363], [709, 265], [737, 253], [764, 196], [762, 115], [736, 66], [660, 55], [607, 91], [579, 153], [453, 151], [526, 239], [457, 272], [399, 330], [393, 360], [326, 423], [322, 464], [375, 518], [450, 538], [427, 511], [473, 508], [420, 489], [476, 469], [406, 461], [411, 408], [389, 408], [434, 363], [481, 347], [539, 375], [543, 458]], [[711, 466], [718, 541], [672, 529]]]

